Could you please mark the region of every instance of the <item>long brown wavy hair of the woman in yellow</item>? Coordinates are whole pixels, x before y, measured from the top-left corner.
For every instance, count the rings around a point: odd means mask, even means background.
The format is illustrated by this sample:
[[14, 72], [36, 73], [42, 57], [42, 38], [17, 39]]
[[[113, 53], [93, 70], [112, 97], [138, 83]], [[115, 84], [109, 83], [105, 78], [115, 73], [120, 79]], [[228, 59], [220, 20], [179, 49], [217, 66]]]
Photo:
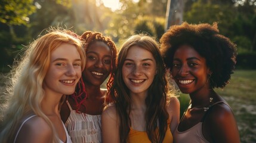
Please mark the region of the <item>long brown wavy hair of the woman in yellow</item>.
[[[149, 87], [149, 95], [146, 98], [146, 132], [151, 142], [162, 142], [165, 137], [167, 120], [169, 114], [166, 111], [166, 103], [169, 102], [168, 80], [166, 80], [164, 61], [162, 60], [159, 44], [153, 38], [146, 35], [134, 35], [129, 38], [118, 54], [117, 67], [114, 74], [113, 86], [110, 88], [110, 96], [116, 106], [116, 111], [120, 119], [119, 131], [120, 141], [127, 142], [131, 119], [131, 98], [129, 89], [122, 77], [122, 67], [131, 46], [139, 46], [151, 52], [156, 60], [156, 70], [152, 85]], [[159, 123], [159, 126], [158, 126]], [[159, 128], [159, 132], [155, 130]]]

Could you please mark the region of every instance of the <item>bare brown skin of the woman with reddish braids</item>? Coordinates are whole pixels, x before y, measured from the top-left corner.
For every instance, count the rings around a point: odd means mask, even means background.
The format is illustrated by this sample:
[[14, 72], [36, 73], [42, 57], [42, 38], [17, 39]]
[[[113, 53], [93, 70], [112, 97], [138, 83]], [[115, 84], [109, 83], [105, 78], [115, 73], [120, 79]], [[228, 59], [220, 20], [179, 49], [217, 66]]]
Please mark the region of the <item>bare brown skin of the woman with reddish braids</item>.
[[[82, 103], [79, 111], [82, 113], [98, 115], [102, 112], [107, 91], [106, 89], [101, 89], [100, 85], [110, 74], [112, 52], [106, 43], [97, 41], [88, 46], [86, 55], [87, 63], [85, 64], [85, 70], [82, 71], [82, 78], [84, 79], [87, 91], [87, 100]], [[75, 101], [69, 98], [69, 103], [75, 110]], [[64, 102], [61, 107], [61, 118], [63, 119], [63, 122], [66, 122], [69, 114], [69, 107], [67, 107], [66, 102]]]

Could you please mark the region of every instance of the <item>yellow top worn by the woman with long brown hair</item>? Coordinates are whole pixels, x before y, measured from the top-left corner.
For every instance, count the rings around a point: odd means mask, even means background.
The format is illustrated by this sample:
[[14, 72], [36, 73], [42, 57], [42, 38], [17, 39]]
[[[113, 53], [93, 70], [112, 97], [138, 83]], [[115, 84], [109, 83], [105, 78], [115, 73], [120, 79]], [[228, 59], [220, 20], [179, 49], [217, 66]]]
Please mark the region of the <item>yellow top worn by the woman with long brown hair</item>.
[[[166, 129], [165, 138], [164, 138], [163, 143], [167, 143], [167, 142], [172, 143], [173, 138], [172, 138], [171, 129], [169, 128], [170, 120], [168, 120], [167, 124], [168, 124], [168, 126]], [[130, 128], [127, 141], [130, 143], [147, 143], [147, 142], [151, 143], [149, 138], [147, 137], [147, 132], [134, 130], [132, 128]]]

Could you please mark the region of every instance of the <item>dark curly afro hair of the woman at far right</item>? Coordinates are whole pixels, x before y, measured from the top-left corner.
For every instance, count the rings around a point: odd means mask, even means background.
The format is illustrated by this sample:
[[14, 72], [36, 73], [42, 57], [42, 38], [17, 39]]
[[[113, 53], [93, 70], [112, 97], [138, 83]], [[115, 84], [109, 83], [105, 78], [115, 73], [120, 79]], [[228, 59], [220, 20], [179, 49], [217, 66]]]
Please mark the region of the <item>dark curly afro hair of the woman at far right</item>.
[[206, 59], [206, 65], [212, 71], [209, 79], [211, 88], [224, 88], [229, 83], [236, 64], [236, 45], [220, 35], [217, 23], [211, 26], [184, 22], [171, 26], [160, 42], [161, 54], [168, 69], [172, 69], [175, 51], [181, 45], [189, 45]]

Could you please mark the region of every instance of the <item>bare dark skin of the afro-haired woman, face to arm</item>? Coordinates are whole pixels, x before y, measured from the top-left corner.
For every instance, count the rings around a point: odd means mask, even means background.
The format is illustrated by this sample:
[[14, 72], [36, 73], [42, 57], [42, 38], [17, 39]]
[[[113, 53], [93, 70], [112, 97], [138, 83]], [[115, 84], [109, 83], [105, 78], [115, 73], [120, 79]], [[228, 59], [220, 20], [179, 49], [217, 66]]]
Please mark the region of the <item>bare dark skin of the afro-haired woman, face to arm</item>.
[[[178, 126], [179, 131], [188, 130], [201, 122], [205, 114], [203, 107], [209, 106], [210, 97], [213, 102], [226, 102], [210, 87], [207, 76], [211, 71], [206, 66], [206, 60], [191, 46], [183, 45], [175, 51], [171, 71], [180, 91], [189, 94], [192, 102]], [[202, 133], [209, 142], [239, 142], [238, 128], [230, 107], [226, 104], [214, 105], [203, 121]]]

